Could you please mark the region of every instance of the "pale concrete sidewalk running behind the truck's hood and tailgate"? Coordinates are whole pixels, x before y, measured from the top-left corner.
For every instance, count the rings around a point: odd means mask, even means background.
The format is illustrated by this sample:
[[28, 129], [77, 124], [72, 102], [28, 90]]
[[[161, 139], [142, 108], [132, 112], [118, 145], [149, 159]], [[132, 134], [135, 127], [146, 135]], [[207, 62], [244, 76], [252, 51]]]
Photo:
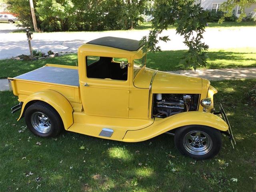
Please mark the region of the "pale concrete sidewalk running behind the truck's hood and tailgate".
[[[233, 69], [201, 69], [201, 70], [181, 70], [167, 71], [170, 73], [182, 74], [193, 77], [201, 77], [211, 81], [238, 80], [256, 78], [256, 67], [233, 68]], [[0, 79], [0, 91], [9, 90], [8, 80]]]

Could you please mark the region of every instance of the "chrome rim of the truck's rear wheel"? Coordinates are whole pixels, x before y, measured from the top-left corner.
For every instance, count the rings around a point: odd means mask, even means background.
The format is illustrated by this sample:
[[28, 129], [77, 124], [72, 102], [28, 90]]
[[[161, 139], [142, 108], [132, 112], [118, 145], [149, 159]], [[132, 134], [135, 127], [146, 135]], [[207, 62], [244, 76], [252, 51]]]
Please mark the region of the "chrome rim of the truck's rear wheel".
[[31, 123], [40, 133], [48, 133], [52, 128], [50, 118], [42, 112], [34, 112], [31, 116]]

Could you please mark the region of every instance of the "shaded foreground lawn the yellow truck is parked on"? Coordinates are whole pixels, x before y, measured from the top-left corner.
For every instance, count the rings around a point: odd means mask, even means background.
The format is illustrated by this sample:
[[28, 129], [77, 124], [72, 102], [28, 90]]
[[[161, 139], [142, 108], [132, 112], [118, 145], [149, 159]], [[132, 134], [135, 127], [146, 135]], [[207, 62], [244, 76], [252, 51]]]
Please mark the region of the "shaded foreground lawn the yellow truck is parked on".
[[223, 136], [220, 153], [204, 161], [180, 155], [166, 134], [138, 143], [66, 131], [34, 136], [24, 119], [16, 122], [18, 112], [10, 113], [17, 98], [0, 92], [0, 191], [255, 191], [256, 110], [245, 94], [253, 84], [255, 79], [212, 83], [219, 91], [215, 107], [226, 109], [237, 145], [232, 149]]

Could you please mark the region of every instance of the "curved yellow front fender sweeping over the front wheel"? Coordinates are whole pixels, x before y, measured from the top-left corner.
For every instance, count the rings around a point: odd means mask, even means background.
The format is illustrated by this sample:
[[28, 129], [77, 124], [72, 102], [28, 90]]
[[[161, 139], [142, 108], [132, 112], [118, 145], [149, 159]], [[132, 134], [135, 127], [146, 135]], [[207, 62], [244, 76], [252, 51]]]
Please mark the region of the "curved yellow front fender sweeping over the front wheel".
[[191, 111], [179, 113], [164, 119], [155, 118], [154, 123], [146, 128], [127, 131], [123, 141], [144, 141], [175, 128], [187, 125], [204, 125], [218, 129], [220, 131], [228, 130], [228, 124], [226, 124], [226, 122], [219, 116], [207, 112]]

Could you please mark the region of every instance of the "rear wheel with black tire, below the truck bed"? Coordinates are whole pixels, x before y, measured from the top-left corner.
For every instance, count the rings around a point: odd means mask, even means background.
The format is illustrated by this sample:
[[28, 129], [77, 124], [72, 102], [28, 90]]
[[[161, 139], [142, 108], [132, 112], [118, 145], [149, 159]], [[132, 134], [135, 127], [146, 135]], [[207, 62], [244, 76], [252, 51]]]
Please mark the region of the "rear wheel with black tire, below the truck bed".
[[[39, 122], [40, 120], [37, 119], [37, 117], [42, 119], [42, 114], [44, 118], [47, 118], [47, 124], [44, 124], [44, 122], [41, 123]], [[64, 129], [62, 119], [58, 112], [52, 106], [44, 102], [39, 101], [31, 104], [26, 109], [24, 116], [28, 129], [36, 136], [54, 137]], [[34, 125], [32, 122], [34, 122]]]

